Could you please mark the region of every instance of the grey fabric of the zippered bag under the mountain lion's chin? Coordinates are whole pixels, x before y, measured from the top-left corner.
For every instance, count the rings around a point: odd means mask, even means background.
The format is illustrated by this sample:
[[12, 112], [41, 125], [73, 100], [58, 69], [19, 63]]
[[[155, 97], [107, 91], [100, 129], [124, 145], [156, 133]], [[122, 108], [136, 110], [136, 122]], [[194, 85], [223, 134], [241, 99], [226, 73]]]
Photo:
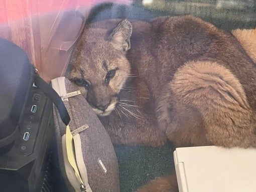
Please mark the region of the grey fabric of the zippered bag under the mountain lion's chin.
[[[65, 79], [67, 93], [79, 90], [79, 88]], [[82, 95], [77, 95], [64, 100], [64, 104], [69, 112], [71, 121], [69, 123], [70, 130], [73, 131], [85, 124], [89, 127], [80, 132], [83, 161], [85, 163], [88, 182], [93, 192], [118, 192], [119, 189], [119, 170], [117, 158], [113, 149], [111, 140], [104, 129], [103, 125], [97, 118], [94, 111], [86, 102]], [[58, 142], [58, 156], [60, 169], [64, 180], [66, 181], [69, 191], [74, 191], [67, 180], [64, 170], [64, 162], [61, 149], [61, 136], [65, 134], [66, 126], [61, 121], [57, 109], [54, 108], [54, 119], [56, 127], [56, 136]], [[106, 173], [102, 169], [105, 166]]]

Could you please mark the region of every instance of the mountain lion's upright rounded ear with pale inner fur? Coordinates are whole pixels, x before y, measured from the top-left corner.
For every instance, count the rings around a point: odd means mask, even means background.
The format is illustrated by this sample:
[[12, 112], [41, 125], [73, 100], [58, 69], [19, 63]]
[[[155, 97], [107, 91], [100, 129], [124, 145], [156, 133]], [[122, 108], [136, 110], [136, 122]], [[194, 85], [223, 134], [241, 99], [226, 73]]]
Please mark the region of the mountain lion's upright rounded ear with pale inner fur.
[[132, 31], [132, 24], [127, 20], [122, 20], [112, 31], [108, 40], [112, 43], [115, 49], [126, 52], [131, 48], [130, 37]]

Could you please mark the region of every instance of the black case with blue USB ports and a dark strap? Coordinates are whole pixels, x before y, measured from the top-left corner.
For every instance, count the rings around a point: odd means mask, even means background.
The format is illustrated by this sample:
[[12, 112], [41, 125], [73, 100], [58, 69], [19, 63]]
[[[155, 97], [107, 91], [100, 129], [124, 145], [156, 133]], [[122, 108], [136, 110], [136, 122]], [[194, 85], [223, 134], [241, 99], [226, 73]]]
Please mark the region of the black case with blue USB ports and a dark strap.
[[0, 88], [1, 191], [52, 191], [45, 178], [54, 135], [52, 102], [66, 125], [70, 120], [62, 99], [40, 78], [27, 54], [4, 39]]

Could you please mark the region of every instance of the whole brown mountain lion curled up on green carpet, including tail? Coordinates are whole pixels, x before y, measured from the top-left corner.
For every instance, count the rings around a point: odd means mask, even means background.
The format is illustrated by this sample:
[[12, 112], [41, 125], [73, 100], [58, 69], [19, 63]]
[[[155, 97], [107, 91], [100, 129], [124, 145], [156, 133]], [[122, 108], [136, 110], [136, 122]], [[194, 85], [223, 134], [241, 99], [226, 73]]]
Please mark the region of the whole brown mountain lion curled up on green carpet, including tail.
[[[114, 144], [256, 146], [255, 63], [234, 36], [201, 19], [90, 24], [67, 77]], [[174, 175], [148, 186], [139, 191], [178, 191]]]

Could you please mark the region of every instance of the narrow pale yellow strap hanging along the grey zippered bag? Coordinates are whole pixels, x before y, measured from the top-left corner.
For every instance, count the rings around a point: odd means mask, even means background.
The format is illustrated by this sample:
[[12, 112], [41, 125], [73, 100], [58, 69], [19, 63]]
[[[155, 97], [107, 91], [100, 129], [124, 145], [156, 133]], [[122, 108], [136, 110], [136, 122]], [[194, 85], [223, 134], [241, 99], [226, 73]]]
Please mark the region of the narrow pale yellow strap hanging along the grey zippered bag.
[[83, 184], [82, 177], [79, 173], [76, 160], [75, 160], [75, 151], [74, 151], [74, 146], [73, 146], [73, 135], [70, 131], [69, 125], [67, 125], [66, 128], [66, 148], [67, 148], [67, 155], [68, 155], [68, 161], [73, 167], [75, 174], [78, 176], [80, 182]]

